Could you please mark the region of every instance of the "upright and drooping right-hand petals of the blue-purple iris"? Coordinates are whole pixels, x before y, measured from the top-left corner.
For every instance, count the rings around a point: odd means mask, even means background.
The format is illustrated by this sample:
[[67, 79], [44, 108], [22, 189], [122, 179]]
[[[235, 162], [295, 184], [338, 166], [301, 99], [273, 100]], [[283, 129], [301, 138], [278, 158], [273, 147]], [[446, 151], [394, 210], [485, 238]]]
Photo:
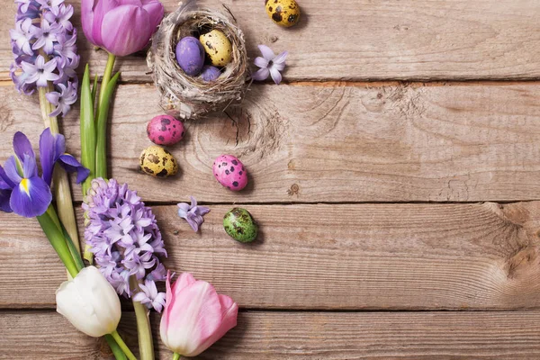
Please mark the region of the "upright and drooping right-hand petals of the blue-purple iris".
[[90, 175], [90, 170], [82, 166], [75, 157], [66, 153], [66, 138], [62, 134], [52, 134], [50, 129], [43, 130], [40, 136], [40, 162], [43, 180], [49, 184], [55, 164], [62, 166], [68, 173], [76, 172], [76, 183], [80, 184]]

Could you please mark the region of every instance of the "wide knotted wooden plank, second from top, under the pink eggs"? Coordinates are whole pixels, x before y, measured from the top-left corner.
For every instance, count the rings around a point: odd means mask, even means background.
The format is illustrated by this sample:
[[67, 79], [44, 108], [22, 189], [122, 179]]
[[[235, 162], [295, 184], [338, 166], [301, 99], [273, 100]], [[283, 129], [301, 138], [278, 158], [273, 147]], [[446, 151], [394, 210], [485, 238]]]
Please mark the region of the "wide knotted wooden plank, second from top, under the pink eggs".
[[[0, 160], [16, 130], [37, 144], [37, 99], [0, 87]], [[241, 107], [186, 123], [171, 148], [181, 171], [138, 171], [160, 113], [150, 85], [122, 85], [112, 109], [112, 176], [146, 201], [193, 194], [205, 202], [474, 202], [540, 199], [540, 85], [254, 86]], [[141, 101], [144, 99], [144, 101]], [[77, 111], [63, 121], [78, 153]], [[237, 145], [238, 140], [238, 145]], [[250, 184], [222, 188], [213, 159], [241, 158]], [[75, 194], [81, 199], [79, 188]]]

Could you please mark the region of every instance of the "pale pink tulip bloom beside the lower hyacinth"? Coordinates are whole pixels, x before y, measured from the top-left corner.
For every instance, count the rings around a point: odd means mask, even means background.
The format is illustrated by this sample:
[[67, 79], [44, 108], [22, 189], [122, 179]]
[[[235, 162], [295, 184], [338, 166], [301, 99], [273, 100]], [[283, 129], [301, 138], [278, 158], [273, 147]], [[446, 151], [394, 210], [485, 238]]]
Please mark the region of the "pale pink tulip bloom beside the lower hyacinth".
[[181, 356], [198, 356], [237, 325], [238, 305], [211, 284], [183, 273], [171, 287], [166, 277], [166, 306], [161, 340]]

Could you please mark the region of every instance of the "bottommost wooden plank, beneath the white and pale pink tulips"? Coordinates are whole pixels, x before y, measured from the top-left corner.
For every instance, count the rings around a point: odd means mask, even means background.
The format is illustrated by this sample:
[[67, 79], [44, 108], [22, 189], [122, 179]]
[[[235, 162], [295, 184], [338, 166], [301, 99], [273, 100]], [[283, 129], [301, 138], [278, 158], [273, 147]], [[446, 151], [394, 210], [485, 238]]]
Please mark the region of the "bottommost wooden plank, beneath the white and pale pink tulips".
[[[171, 353], [158, 338], [157, 359]], [[241, 311], [238, 327], [193, 359], [535, 359], [540, 312]], [[0, 313], [0, 359], [112, 359], [103, 339], [77, 333], [52, 312]], [[127, 329], [128, 332], [125, 332]], [[135, 321], [120, 332], [136, 348]]]

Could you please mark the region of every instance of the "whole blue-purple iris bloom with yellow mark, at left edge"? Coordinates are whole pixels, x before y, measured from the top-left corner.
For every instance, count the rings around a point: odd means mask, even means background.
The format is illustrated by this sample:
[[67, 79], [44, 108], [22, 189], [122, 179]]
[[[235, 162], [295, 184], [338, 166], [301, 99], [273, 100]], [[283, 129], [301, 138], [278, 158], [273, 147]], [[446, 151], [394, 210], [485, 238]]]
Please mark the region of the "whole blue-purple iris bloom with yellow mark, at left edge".
[[[43, 175], [40, 177], [30, 140], [23, 132], [15, 133], [15, 155], [7, 159], [4, 167], [0, 166], [0, 210], [13, 211], [26, 218], [45, 213], [52, 201], [50, 182], [57, 162], [67, 166], [68, 171], [77, 171], [77, 178], [85, 179], [89, 171], [75, 157], [64, 154], [64, 141], [62, 135], [53, 136], [49, 128], [41, 133], [40, 162]], [[61, 156], [56, 156], [58, 151], [61, 151]]]

